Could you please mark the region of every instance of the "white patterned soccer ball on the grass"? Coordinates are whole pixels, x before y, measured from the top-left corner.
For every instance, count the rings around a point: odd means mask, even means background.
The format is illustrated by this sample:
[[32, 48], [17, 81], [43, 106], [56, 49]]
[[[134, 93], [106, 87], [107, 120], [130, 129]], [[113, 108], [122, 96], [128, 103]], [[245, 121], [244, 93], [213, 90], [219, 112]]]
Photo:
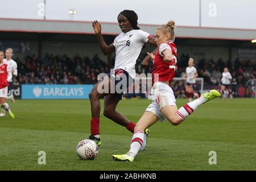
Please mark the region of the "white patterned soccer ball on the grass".
[[76, 153], [80, 159], [93, 160], [98, 154], [98, 146], [93, 140], [85, 139], [77, 144]]

